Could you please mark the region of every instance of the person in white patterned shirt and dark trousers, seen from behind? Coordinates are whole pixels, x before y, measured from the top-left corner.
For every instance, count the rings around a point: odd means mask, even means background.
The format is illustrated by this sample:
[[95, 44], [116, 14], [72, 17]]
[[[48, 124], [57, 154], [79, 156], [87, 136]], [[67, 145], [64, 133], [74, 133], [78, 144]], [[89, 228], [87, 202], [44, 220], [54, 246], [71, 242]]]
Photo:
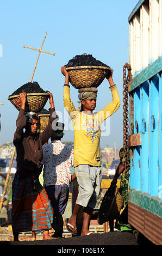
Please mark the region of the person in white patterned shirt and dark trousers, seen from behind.
[[60, 238], [63, 235], [63, 214], [68, 201], [70, 182], [76, 179], [75, 173], [71, 175], [73, 166], [72, 147], [61, 143], [64, 136], [64, 124], [57, 122], [57, 131], [53, 131], [51, 143], [43, 149], [43, 186], [48, 194], [53, 207], [53, 237]]

